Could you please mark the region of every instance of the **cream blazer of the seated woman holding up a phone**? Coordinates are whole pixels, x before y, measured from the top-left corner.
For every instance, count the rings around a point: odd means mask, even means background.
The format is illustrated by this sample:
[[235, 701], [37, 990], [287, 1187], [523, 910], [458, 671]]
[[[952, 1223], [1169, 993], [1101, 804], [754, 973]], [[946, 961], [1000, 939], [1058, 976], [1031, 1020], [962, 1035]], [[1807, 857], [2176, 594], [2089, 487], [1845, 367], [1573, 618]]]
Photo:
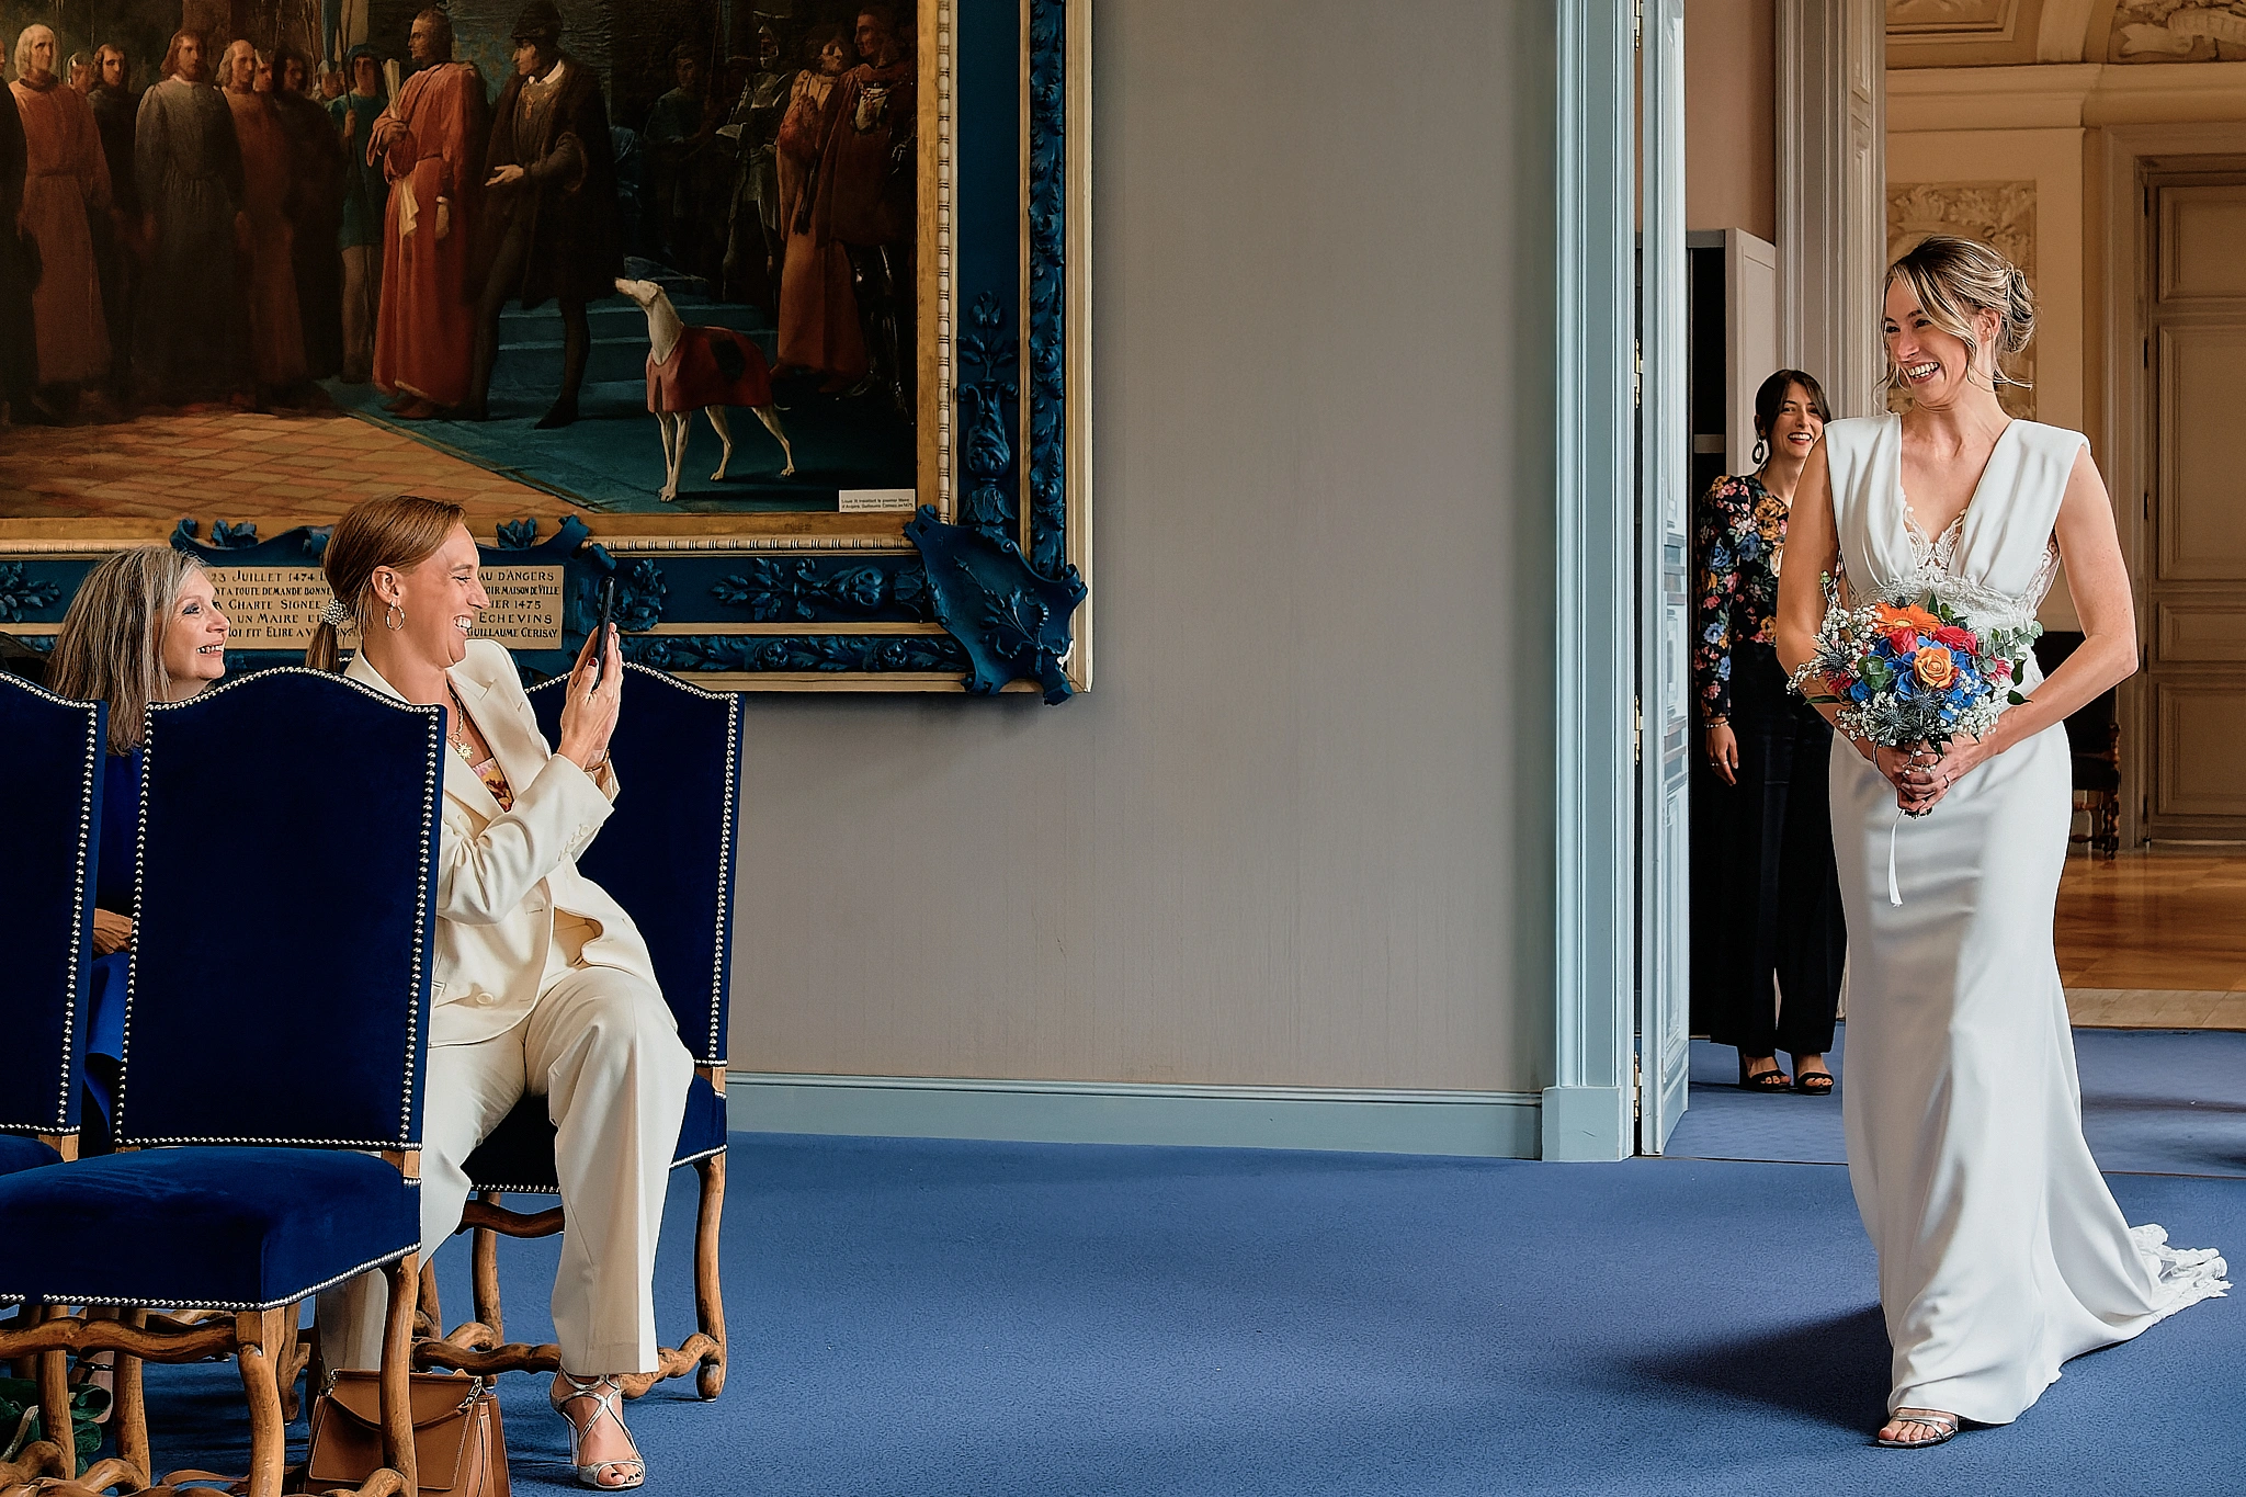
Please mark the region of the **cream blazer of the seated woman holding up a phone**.
[[[353, 655], [344, 676], [404, 700], [364, 653]], [[582, 965], [620, 967], [656, 981], [631, 916], [577, 873], [577, 855], [609, 819], [615, 770], [604, 770], [595, 783], [546, 747], [503, 644], [469, 640], [467, 658], [449, 676], [505, 770], [514, 806], [501, 810], [476, 772], [451, 747], [445, 750], [436, 988], [429, 999], [429, 1044], [436, 1046], [492, 1039], [530, 1017], [548, 972], [566, 965], [555, 952], [557, 911], [597, 927], [577, 954]]]

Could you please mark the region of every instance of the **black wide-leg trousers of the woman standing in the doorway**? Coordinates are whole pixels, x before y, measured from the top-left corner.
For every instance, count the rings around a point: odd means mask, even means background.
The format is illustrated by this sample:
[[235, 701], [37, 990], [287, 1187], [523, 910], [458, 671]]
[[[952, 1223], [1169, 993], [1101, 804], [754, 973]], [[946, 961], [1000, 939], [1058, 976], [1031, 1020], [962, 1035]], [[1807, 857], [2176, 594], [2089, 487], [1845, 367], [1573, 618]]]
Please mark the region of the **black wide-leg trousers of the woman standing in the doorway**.
[[[1738, 783], [1693, 774], [1693, 1028], [1741, 1055], [1833, 1048], [1848, 922], [1833, 862], [1833, 729], [1765, 644], [1732, 651]], [[1777, 997], [1770, 979], [1777, 974]]]

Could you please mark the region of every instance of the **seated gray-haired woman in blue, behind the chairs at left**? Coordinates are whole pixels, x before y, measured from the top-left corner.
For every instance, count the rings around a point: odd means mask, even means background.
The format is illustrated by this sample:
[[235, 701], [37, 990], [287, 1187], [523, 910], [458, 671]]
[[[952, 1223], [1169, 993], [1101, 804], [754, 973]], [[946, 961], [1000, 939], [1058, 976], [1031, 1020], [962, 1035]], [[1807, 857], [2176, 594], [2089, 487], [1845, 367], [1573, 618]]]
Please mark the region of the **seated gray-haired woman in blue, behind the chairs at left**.
[[168, 545], [112, 552], [79, 584], [54, 637], [47, 689], [108, 702], [101, 846], [94, 864], [94, 981], [85, 1028], [92, 1140], [108, 1138], [126, 1030], [126, 947], [133, 940], [133, 837], [139, 752], [153, 702], [184, 702], [227, 673], [227, 615], [209, 572]]

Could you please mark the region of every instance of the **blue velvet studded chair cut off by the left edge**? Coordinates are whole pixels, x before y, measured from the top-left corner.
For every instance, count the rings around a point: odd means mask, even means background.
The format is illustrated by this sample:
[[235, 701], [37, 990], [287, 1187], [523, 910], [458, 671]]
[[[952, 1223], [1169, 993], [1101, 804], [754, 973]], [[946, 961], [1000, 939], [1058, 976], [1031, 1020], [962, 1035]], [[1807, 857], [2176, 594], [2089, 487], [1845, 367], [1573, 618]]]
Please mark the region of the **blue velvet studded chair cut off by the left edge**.
[[94, 952], [108, 707], [0, 676], [0, 869], [9, 972], [0, 979], [0, 1174], [79, 1151], [79, 1068]]

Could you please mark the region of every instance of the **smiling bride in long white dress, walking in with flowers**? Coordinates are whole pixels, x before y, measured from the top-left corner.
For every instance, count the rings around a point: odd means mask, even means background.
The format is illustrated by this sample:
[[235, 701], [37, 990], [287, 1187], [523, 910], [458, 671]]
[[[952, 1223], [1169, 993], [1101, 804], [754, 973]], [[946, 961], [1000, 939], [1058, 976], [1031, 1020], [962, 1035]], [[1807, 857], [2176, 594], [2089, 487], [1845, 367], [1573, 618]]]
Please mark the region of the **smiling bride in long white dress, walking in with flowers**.
[[1833, 754], [1848, 1181], [1893, 1347], [1882, 1445], [2010, 1423], [2066, 1358], [2228, 1288], [2215, 1250], [2131, 1228], [2082, 1142], [2051, 947], [2073, 799], [2062, 718], [2136, 671], [2136, 622], [2087, 440], [1997, 404], [1999, 359], [2033, 319], [2026, 278], [1985, 245], [1927, 240], [1889, 269], [1887, 357], [1911, 408], [1826, 426], [1779, 593], [1788, 669], [1813, 653], [1819, 572], [1857, 601], [1934, 593], [1974, 626], [2021, 626], [2064, 559], [2087, 635], [2048, 680], [2028, 662], [2028, 702], [1985, 738]]

